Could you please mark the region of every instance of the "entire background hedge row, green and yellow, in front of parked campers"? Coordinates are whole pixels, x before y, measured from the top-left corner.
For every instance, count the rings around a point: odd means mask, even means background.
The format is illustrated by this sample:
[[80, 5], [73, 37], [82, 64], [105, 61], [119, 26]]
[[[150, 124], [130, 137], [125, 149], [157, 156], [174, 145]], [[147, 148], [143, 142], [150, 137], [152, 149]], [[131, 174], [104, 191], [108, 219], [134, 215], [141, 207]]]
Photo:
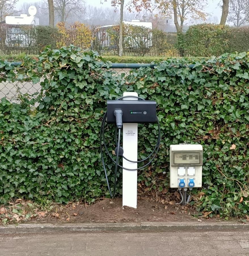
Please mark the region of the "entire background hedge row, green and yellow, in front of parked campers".
[[[20, 28], [17, 30], [16, 33], [20, 33]], [[98, 27], [91, 30], [85, 24], [75, 22], [70, 26], [58, 23], [55, 28], [24, 26], [22, 31], [26, 38], [23, 43], [28, 41], [29, 46], [27, 46], [27, 42], [20, 47], [9, 46], [6, 42], [10, 44], [14, 34], [10, 33], [9, 25], [0, 24], [1, 54], [19, 54], [22, 52], [39, 54], [47, 45], [55, 48], [70, 44], [83, 49], [97, 50], [103, 56], [118, 55], [119, 52], [119, 26], [112, 26], [108, 29]], [[142, 61], [143, 56], [149, 56], [147, 57], [149, 62], [151, 62], [151, 58], [163, 60], [170, 56], [219, 56], [224, 52], [248, 51], [249, 27], [234, 28], [217, 24], [197, 24], [190, 26], [186, 33], [175, 34], [126, 25], [123, 30], [123, 48], [124, 55], [130, 55], [124, 58], [128, 59], [127, 62], [133, 63], [132, 58], [135, 56], [139, 60], [141, 58]], [[115, 59], [113, 56], [109, 58]]]

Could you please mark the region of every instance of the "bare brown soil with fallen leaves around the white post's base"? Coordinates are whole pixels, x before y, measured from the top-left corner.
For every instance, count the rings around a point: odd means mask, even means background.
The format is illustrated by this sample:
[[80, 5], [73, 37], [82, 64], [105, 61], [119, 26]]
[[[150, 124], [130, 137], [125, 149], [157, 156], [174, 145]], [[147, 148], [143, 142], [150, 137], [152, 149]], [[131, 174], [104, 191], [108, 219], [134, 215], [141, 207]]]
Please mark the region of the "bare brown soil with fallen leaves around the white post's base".
[[[42, 216], [44, 214], [44, 216]], [[71, 222], [71, 223], [115, 223], [115, 222], [167, 222], [167, 221], [202, 221], [205, 218], [189, 207], [163, 205], [160, 203], [138, 200], [137, 209], [122, 207], [122, 198], [104, 199], [93, 205], [69, 203], [66, 206], [55, 205], [52, 212], [38, 214], [28, 222]], [[214, 219], [212, 219], [214, 221]]]

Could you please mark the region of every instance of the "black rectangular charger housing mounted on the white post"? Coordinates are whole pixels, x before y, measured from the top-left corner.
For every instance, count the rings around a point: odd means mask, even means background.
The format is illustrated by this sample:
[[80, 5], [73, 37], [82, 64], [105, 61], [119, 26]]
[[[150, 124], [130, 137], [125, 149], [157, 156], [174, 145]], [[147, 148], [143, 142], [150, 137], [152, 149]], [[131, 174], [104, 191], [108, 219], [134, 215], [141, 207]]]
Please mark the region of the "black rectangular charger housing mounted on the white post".
[[116, 109], [123, 111], [123, 123], [155, 123], [156, 106], [154, 100], [107, 100], [107, 123], [116, 123]]

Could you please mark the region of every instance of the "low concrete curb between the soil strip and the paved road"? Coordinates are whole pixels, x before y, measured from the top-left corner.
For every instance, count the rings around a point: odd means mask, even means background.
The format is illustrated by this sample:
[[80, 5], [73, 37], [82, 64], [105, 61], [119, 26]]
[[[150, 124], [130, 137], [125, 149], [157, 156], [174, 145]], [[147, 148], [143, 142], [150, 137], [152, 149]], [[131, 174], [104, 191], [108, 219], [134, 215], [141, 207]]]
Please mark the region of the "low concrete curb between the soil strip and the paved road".
[[10, 224], [0, 227], [0, 234], [51, 232], [195, 232], [248, 231], [249, 224], [236, 222], [140, 222], [140, 223], [66, 223]]

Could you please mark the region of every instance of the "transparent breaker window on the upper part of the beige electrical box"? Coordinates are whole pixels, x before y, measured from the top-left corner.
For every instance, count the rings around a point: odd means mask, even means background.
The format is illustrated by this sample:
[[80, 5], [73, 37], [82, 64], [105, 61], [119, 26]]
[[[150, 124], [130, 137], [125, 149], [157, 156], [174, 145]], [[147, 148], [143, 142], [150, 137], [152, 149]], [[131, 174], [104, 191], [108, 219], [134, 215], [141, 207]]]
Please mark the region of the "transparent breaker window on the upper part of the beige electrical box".
[[202, 164], [201, 152], [173, 152], [173, 164], [174, 165], [184, 165], [184, 164]]

